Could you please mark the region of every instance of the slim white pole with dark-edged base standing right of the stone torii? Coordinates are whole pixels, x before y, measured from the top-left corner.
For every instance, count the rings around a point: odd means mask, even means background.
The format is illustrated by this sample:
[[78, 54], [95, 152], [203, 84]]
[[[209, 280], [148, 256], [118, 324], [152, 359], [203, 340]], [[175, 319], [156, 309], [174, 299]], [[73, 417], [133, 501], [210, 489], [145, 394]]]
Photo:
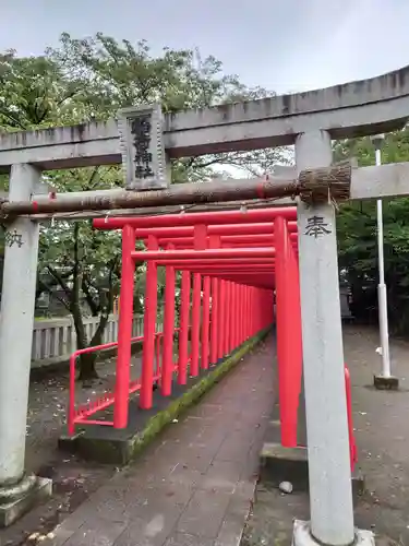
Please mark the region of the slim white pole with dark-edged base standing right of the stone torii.
[[[371, 136], [371, 141], [375, 146], [375, 164], [382, 165], [381, 149], [384, 134], [376, 134]], [[385, 284], [385, 263], [384, 263], [384, 223], [382, 199], [376, 202], [376, 219], [377, 219], [377, 261], [380, 272], [380, 283], [377, 285], [377, 307], [380, 317], [380, 337], [382, 351], [382, 373], [374, 377], [374, 385], [376, 389], [392, 389], [398, 388], [397, 378], [390, 375], [390, 358], [389, 358], [389, 333], [387, 320], [387, 294]]]

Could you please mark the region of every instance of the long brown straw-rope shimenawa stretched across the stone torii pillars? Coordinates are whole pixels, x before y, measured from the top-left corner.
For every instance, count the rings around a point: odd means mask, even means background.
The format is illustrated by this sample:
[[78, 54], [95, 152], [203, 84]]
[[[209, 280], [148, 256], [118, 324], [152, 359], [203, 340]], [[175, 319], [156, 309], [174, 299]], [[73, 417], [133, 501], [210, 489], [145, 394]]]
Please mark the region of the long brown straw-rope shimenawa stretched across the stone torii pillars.
[[165, 190], [127, 191], [119, 195], [69, 197], [59, 200], [58, 195], [47, 201], [3, 201], [0, 204], [0, 219], [16, 216], [52, 215], [56, 213], [75, 213], [84, 211], [110, 211], [142, 209], [147, 206], [189, 205], [243, 200], [272, 200], [299, 197], [309, 204], [337, 203], [350, 197], [351, 165], [342, 163], [330, 167], [302, 170], [292, 180], [265, 179], [220, 182], [213, 180], [202, 183], [179, 183]]

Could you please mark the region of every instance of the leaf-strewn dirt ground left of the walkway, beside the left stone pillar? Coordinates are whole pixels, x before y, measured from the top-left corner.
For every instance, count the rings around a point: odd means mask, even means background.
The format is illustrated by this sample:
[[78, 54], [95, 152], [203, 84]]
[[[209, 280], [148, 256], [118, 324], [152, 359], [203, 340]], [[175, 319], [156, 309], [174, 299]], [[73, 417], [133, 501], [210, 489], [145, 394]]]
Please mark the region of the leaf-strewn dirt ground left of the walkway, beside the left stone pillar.
[[[77, 403], [86, 403], [113, 389], [115, 358], [99, 363], [97, 370], [99, 379], [92, 385], [76, 385]], [[136, 379], [140, 370], [141, 357], [135, 356], [131, 378]], [[35, 544], [116, 472], [113, 466], [87, 463], [58, 450], [58, 438], [67, 417], [68, 388], [65, 369], [58, 373], [36, 373], [31, 382], [26, 468], [52, 478], [53, 496], [11, 527], [0, 531], [0, 546]]]

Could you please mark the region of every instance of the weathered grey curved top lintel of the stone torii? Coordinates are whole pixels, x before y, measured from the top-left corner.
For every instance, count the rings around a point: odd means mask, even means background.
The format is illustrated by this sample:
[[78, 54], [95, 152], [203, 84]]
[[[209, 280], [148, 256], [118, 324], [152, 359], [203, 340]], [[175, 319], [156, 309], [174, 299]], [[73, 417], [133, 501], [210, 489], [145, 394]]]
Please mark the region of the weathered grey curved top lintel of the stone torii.
[[[187, 110], [166, 116], [170, 157], [288, 145], [298, 133], [327, 130], [333, 139], [402, 128], [409, 112], [409, 67], [325, 90]], [[43, 169], [120, 164], [117, 122], [83, 123], [0, 135], [0, 167]]]

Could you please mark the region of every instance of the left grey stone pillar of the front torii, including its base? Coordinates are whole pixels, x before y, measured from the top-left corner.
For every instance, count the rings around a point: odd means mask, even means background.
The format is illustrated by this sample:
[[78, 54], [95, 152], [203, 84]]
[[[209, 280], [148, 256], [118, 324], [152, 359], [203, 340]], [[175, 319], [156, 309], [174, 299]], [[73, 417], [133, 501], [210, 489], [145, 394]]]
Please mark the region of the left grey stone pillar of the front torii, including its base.
[[[13, 165], [10, 201], [28, 200], [40, 173]], [[0, 313], [0, 526], [49, 495], [49, 480], [24, 472], [28, 382], [38, 259], [38, 223], [17, 218], [5, 233]]]

